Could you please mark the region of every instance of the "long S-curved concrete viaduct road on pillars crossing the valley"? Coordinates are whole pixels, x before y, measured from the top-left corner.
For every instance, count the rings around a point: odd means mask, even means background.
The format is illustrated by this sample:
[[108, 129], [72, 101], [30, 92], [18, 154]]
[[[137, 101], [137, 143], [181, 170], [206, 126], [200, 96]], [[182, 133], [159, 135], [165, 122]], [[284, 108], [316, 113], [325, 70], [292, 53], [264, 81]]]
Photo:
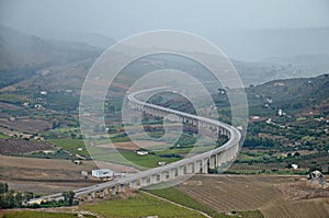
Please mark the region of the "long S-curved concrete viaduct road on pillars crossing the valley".
[[[129, 105], [135, 110], [140, 110], [146, 113], [151, 113], [156, 111], [162, 113], [163, 115], [174, 114], [186, 122], [191, 122], [191, 123], [196, 122], [201, 126], [211, 127], [212, 129], [214, 128], [217, 129], [217, 131], [228, 136], [229, 140], [219, 148], [200, 154], [195, 154], [166, 164], [163, 167], [143, 171], [134, 175], [131, 175], [128, 177], [123, 177], [115, 181], [75, 190], [76, 197], [81, 197], [81, 196], [95, 197], [97, 193], [101, 192], [104, 194], [105, 192], [105, 194], [109, 194], [110, 190], [114, 191], [113, 192], [114, 194], [115, 192], [123, 192], [122, 188], [126, 186], [131, 186], [131, 188], [139, 188], [144, 186], [148, 186], [150, 184], [173, 180], [179, 175], [191, 174], [192, 171], [194, 171], [194, 173], [198, 173], [198, 172], [207, 173], [208, 165], [213, 165], [213, 168], [214, 167], [217, 168], [236, 158], [240, 148], [240, 140], [241, 140], [241, 134], [237, 128], [228, 124], [214, 121], [207, 117], [179, 112], [163, 106], [146, 103], [137, 99], [137, 95], [144, 92], [155, 91], [159, 89], [164, 89], [164, 88], [149, 89], [149, 90], [138, 91], [129, 94], [128, 95]], [[158, 180], [158, 175], [160, 175], [160, 180]], [[57, 193], [53, 195], [43, 196], [41, 198], [31, 199], [27, 204], [39, 203], [42, 200], [61, 199], [61, 198], [63, 198], [61, 193]]]

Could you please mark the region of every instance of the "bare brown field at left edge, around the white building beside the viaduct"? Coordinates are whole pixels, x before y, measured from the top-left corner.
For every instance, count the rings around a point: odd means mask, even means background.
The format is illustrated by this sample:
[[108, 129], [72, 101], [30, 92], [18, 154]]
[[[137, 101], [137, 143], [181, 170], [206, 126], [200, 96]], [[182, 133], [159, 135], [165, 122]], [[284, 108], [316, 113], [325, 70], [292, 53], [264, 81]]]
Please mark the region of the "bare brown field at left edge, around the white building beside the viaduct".
[[84, 180], [81, 175], [82, 170], [90, 173], [99, 167], [116, 172], [136, 172], [128, 167], [102, 161], [83, 161], [77, 165], [70, 160], [0, 156], [0, 181], [8, 182], [11, 190], [50, 194], [99, 182]]

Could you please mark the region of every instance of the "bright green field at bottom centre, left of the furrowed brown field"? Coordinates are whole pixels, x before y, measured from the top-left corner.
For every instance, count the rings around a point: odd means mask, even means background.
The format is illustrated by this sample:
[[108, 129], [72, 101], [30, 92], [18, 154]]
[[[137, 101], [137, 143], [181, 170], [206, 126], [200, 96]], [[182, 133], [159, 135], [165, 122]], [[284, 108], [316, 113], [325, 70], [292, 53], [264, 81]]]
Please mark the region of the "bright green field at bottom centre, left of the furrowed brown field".
[[170, 203], [163, 202], [156, 197], [140, 193], [127, 199], [113, 199], [101, 202], [95, 205], [81, 206], [82, 209], [97, 213], [103, 217], [204, 217], [203, 215]]

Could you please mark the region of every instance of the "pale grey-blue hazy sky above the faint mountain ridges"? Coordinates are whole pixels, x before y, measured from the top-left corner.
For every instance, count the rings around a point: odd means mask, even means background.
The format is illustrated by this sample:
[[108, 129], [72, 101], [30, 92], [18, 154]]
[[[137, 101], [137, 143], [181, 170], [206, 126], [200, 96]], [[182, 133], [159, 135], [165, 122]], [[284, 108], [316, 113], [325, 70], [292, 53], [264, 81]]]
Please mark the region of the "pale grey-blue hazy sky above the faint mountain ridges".
[[27, 33], [100, 33], [116, 39], [174, 28], [214, 37], [227, 30], [329, 26], [328, 0], [0, 0], [0, 23]]

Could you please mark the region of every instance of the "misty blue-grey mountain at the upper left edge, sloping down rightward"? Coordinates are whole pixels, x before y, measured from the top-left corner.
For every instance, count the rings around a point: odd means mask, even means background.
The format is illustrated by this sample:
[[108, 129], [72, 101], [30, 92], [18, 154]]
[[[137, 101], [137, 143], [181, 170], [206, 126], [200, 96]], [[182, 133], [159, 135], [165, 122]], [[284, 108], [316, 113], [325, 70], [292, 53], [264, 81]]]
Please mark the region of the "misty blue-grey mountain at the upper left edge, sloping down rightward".
[[46, 68], [95, 59], [103, 49], [26, 35], [0, 25], [0, 89], [35, 76]]

